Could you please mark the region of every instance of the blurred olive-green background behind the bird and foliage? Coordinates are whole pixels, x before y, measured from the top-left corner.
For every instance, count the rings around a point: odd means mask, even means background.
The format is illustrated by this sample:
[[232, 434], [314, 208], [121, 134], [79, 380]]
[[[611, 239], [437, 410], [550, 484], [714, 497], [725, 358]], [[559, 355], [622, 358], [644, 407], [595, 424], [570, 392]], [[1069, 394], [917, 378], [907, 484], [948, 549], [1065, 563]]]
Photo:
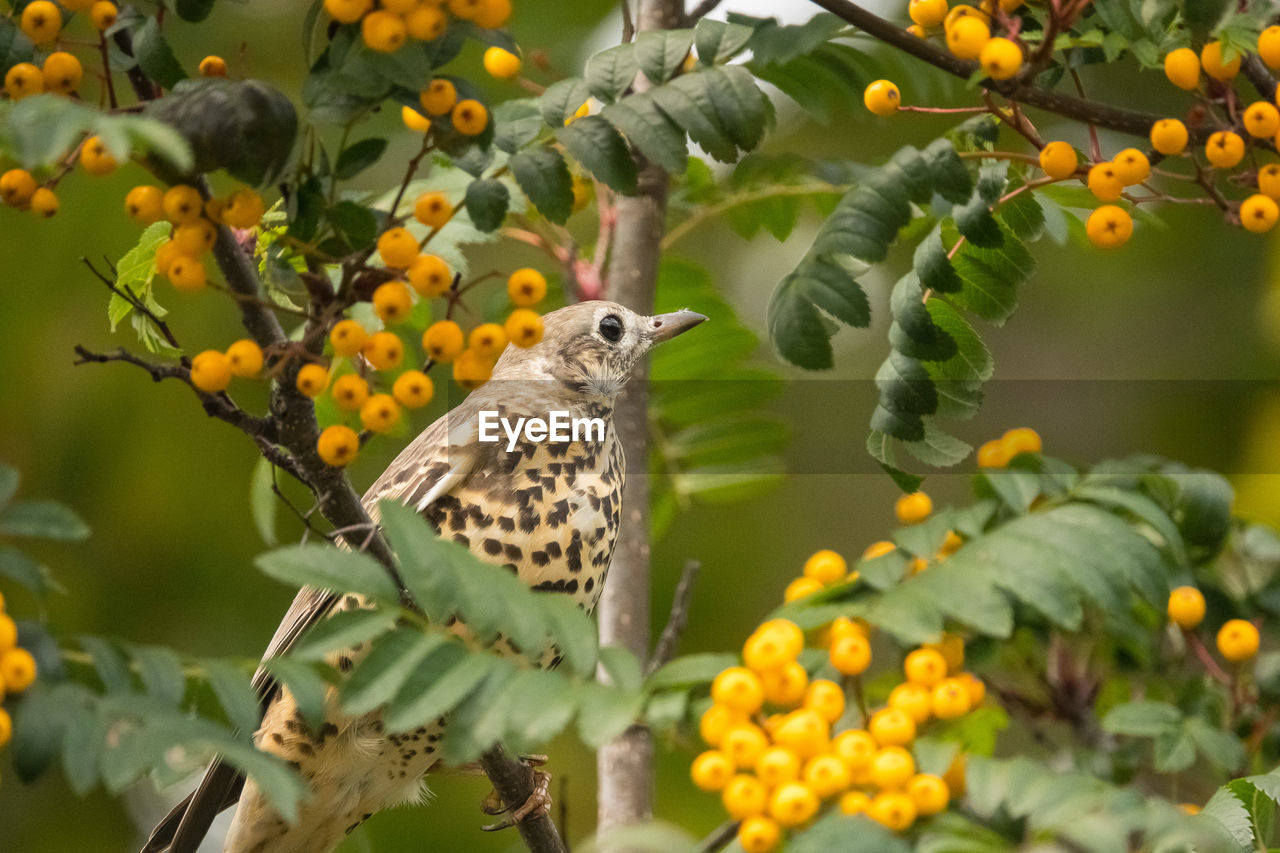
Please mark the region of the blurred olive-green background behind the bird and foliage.
[[[218, 53], [228, 58], [233, 74], [262, 77], [297, 92], [306, 5], [219, 3], [204, 24], [173, 20], [166, 29], [188, 68]], [[550, 65], [566, 73], [580, 69], [588, 53], [617, 35], [605, 26], [617, 20], [613, 3], [516, 0], [516, 9], [512, 28], [526, 53], [544, 49]], [[471, 46], [461, 60], [463, 73], [479, 78], [477, 56]], [[1171, 113], [1185, 106], [1181, 93], [1170, 92], [1155, 74], [1135, 77], [1125, 67], [1105, 73], [1088, 83], [1106, 100]], [[941, 91], [934, 78], [920, 79], [932, 81], [928, 91]], [[515, 85], [485, 85], [494, 99], [520, 95]], [[905, 90], [905, 97], [911, 102], [919, 95]], [[874, 163], [904, 142], [925, 142], [947, 127], [909, 115], [876, 119], [860, 109], [822, 127], [785, 97], [777, 102], [778, 131], [767, 150], [814, 158]], [[390, 155], [364, 178], [371, 188], [398, 177], [401, 155], [413, 145], [394, 113], [375, 118], [370, 129], [393, 134]], [[1044, 119], [1042, 129], [1055, 136], [1052, 119]], [[1083, 128], [1065, 128], [1062, 134], [1085, 142]], [[1121, 147], [1111, 142], [1119, 140], [1103, 138], [1106, 151]], [[205, 418], [177, 383], [155, 386], [125, 365], [72, 365], [76, 343], [96, 350], [136, 346], [128, 330], [108, 333], [106, 293], [77, 259], [116, 259], [132, 246], [137, 228], [122, 214], [122, 199], [145, 178], [136, 167], [105, 179], [76, 172], [60, 186], [63, 209], [49, 223], [0, 210], [0, 460], [22, 470], [23, 494], [64, 501], [93, 529], [86, 544], [37, 548], [68, 589], [41, 613], [55, 633], [108, 634], [193, 654], [250, 658], [261, 652], [291, 598], [251, 565], [264, 548], [247, 505], [252, 446]], [[1032, 425], [1044, 437], [1047, 452], [1070, 460], [1153, 451], [1212, 466], [1236, 482], [1242, 512], [1277, 521], [1280, 270], [1274, 240], [1228, 228], [1215, 211], [1198, 206], [1169, 206], [1160, 216], [1164, 228], [1140, 223], [1132, 243], [1114, 254], [1048, 241], [1034, 247], [1039, 273], [1024, 289], [1018, 314], [1007, 328], [979, 325], [996, 356], [996, 382], [978, 419], [956, 432], [978, 443], [1010, 426]], [[593, 222], [582, 214], [575, 227], [588, 237]], [[695, 231], [676, 251], [712, 269], [742, 320], [763, 334], [768, 296], [815, 225], [810, 213], [780, 245], [767, 236], [748, 243], [713, 224]], [[886, 352], [887, 288], [897, 275], [893, 264], [902, 261], [891, 259], [891, 269], [865, 278], [876, 323], [870, 330], [837, 336], [836, 371], [815, 377], [783, 369], [791, 382], [774, 407], [795, 430], [792, 475], [749, 503], [692, 507], [655, 544], [659, 628], [682, 562], [698, 558], [704, 565], [684, 652], [737, 647], [778, 602], [808, 553], [831, 547], [856, 555], [890, 526], [896, 492], [865, 460], [863, 443], [874, 405], [869, 379]], [[488, 247], [475, 260], [500, 269], [526, 264], [545, 266], [527, 248]], [[166, 302], [189, 347], [225, 347], [239, 337], [233, 313], [211, 292]], [[776, 364], [767, 346], [759, 360]], [[415, 426], [439, 410], [419, 412]], [[380, 441], [362, 455], [351, 470], [357, 488], [376, 476], [398, 446]], [[965, 471], [972, 466], [937, 474], [925, 488], [942, 503], [963, 500]], [[282, 539], [298, 533], [282, 515]], [[15, 615], [35, 615], [33, 601], [15, 589], [0, 592]], [[567, 809], [568, 835], [581, 839], [595, 822], [594, 756], [573, 738], [549, 752], [553, 793]], [[664, 744], [659, 754], [658, 815], [694, 833], [718, 825], [719, 804], [687, 780], [689, 745]], [[138, 840], [134, 816], [150, 825], [164, 808], [150, 792], [124, 802], [101, 794], [81, 800], [56, 772], [23, 786], [5, 753], [0, 777], [0, 847], [9, 850], [129, 849]], [[513, 834], [477, 831], [484, 779], [443, 776], [431, 788], [430, 807], [379, 815], [343, 850], [518, 845]]]

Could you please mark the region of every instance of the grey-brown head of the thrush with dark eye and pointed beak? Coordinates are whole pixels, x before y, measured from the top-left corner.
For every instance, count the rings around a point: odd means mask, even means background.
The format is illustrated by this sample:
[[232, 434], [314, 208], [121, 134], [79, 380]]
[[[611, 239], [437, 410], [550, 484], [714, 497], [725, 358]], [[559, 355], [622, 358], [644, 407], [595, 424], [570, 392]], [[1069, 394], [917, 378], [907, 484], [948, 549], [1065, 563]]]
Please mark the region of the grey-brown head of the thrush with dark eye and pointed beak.
[[593, 397], [614, 397], [654, 345], [707, 318], [689, 310], [644, 316], [617, 302], [579, 302], [543, 318], [543, 339], [508, 346], [494, 366], [495, 380], [552, 379]]

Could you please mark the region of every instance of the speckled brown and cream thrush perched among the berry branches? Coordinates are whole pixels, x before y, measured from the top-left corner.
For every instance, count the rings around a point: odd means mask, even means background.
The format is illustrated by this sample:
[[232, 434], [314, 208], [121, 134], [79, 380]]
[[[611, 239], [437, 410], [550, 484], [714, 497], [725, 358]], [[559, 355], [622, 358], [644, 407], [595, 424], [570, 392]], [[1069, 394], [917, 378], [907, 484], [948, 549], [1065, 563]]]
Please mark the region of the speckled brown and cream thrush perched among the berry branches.
[[[593, 300], [543, 319], [543, 339], [526, 348], [508, 345], [492, 378], [407, 444], [362, 503], [376, 523], [380, 501], [399, 501], [442, 538], [590, 612], [621, 519], [626, 459], [613, 424], [618, 393], [655, 345], [707, 318], [690, 310], [646, 316]], [[600, 419], [603, 441], [588, 439], [590, 432], [567, 442], [535, 442], [527, 432], [513, 442], [504, 434], [481, 441], [481, 412], [516, 423], [553, 411]], [[357, 594], [303, 588], [264, 660], [285, 653], [329, 615], [365, 606]], [[349, 670], [358, 653], [347, 649], [332, 662]], [[539, 661], [557, 662], [554, 649]], [[325, 721], [314, 731], [265, 669], [255, 674], [253, 686], [265, 707], [255, 744], [293, 762], [311, 788], [298, 820], [287, 822], [252, 779], [215, 760], [196, 790], [152, 830], [142, 853], [193, 853], [218, 812], [237, 802], [224, 853], [324, 853], [374, 813], [425, 795], [424, 776], [438, 768], [445, 717], [407, 735], [388, 735], [380, 711], [343, 716], [330, 690]]]

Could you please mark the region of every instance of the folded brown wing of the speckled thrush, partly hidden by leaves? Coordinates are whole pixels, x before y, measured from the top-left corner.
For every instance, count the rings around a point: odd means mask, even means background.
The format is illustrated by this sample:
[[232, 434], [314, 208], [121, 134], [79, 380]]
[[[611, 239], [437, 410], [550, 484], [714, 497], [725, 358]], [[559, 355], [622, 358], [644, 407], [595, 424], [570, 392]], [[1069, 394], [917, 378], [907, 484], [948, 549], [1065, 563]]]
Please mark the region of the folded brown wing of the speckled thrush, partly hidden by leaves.
[[[468, 405], [470, 403], [470, 405]], [[365, 492], [361, 502], [378, 520], [378, 502], [401, 501], [421, 512], [442, 494], [457, 489], [475, 470], [475, 402], [443, 415], [413, 439]], [[355, 537], [352, 537], [355, 539]], [[288, 652], [311, 625], [324, 619], [342, 590], [303, 587], [280, 620], [262, 660]], [[265, 667], [253, 674], [253, 689], [265, 711], [275, 698], [275, 679]], [[220, 811], [239, 799], [244, 779], [234, 767], [215, 758], [200, 785], [151, 830], [142, 853], [195, 853]]]

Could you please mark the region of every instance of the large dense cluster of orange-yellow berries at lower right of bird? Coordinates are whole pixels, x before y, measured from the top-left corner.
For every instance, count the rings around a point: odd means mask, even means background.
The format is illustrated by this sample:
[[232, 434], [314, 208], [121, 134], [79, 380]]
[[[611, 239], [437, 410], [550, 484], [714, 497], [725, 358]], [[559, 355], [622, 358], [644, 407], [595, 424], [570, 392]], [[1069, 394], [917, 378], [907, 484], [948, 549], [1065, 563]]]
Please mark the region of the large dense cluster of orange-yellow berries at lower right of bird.
[[[902, 524], [916, 524], [932, 510], [929, 497], [916, 492], [902, 496], [895, 514]], [[963, 544], [948, 534], [936, 560]], [[877, 542], [864, 558], [893, 549], [891, 542]], [[928, 567], [928, 561], [916, 564], [914, 571]], [[856, 580], [844, 557], [818, 551], [785, 597], [795, 601]], [[721, 793], [724, 809], [741, 821], [739, 843], [749, 853], [774, 849], [786, 829], [808, 824], [824, 800], [844, 815], [865, 815], [901, 831], [943, 811], [964, 790], [963, 754], [938, 776], [918, 772], [910, 751], [931, 721], [961, 717], [986, 698], [982, 680], [963, 671], [961, 637], [943, 634], [910, 651], [904, 680], [874, 711], [863, 704], [860, 678], [872, 663], [870, 628], [838, 617], [810, 639], [826, 652], [813, 672], [799, 661], [806, 638], [795, 622], [760, 625], [742, 646], [742, 665], [716, 676], [712, 706], [700, 720], [709, 749], [692, 762], [694, 784]]]

